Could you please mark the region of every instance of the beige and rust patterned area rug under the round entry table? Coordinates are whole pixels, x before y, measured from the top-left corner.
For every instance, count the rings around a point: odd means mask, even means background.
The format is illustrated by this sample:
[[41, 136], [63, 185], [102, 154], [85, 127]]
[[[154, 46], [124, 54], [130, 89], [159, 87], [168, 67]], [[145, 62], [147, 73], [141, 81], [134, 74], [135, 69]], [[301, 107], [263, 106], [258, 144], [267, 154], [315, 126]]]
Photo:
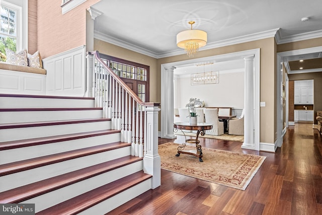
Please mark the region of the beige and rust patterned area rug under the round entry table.
[[[245, 190], [266, 157], [202, 148], [202, 160], [193, 155], [180, 154], [181, 144], [168, 142], [158, 146], [161, 169], [202, 179], [216, 184]], [[196, 147], [186, 146], [185, 150]]]

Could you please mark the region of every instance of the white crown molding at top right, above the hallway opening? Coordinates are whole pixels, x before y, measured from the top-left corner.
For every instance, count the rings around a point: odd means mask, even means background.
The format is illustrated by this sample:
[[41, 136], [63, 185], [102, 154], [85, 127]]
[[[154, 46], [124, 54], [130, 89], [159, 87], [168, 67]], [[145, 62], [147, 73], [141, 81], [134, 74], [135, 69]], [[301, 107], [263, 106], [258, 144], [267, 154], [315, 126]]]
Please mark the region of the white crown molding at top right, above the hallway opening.
[[277, 44], [284, 44], [284, 43], [296, 42], [301, 40], [314, 39], [318, 37], [322, 37], [322, 30], [310, 31], [310, 32], [301, 33], [301, 34], [294, 34], [287, 37], [282, 37], [281, 31], [278, 31], [275, 36], [275, 39]]

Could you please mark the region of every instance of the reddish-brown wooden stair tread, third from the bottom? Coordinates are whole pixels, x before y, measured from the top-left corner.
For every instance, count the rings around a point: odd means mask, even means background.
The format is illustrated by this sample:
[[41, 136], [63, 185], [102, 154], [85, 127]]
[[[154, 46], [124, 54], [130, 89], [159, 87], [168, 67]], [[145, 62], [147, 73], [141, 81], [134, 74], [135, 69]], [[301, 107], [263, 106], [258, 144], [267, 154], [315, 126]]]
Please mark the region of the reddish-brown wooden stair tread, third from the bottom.
[[93, 155], [101, 152], [106, 152], [118, 148], [123, 148], [131, 146], [127, 142], [112, 142], [110, 144], [104, 144], [94, 147], [88, 147], [83, 149], [72, 150], [69, 152], [57, 153], [53, 155], [32, 158], [24, 161], [17, 161], [9, 164], [0, 165], [0, 176], [8, 175], [24, 170], [33, 169], [36, 167], [41, 167], [49, 164], [54, 164], [70, 159], [75, 159], [79, 157], [84, 157], [88, 155]]

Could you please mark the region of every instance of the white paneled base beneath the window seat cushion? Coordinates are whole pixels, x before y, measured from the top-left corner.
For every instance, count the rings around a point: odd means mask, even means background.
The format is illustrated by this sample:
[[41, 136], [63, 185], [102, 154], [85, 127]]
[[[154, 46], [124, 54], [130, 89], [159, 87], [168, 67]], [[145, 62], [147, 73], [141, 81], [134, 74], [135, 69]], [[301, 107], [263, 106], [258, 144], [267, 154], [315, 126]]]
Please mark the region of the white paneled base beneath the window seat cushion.
[[46, 94], [46, 75], [0, 69], [0, 93]]

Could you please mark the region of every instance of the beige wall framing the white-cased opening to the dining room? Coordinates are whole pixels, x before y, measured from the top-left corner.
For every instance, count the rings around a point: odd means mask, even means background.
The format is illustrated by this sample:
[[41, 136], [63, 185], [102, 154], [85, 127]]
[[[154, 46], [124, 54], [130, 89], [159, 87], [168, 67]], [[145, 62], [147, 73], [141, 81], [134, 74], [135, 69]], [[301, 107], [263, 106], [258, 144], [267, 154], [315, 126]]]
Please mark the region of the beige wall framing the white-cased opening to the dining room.
[[[207, 57], [219, 54], [232, 53], [250, 49], [261, 49], [261, 101], [266, 102], [266, 107], [261, 107], [261, 132], [260, 141], [274, 143], [276, 137], [276, 45], [274, 38], [267, 38], [247, 43], [240, 43], [220, 48], [214, 48], [204, 51], [199, 51], [196, 57]], [[186, 54], [165, 57], [157, 59], [157, 79], [161, 80], [161, 64], [187, 60], [189, 57]], [[157, 100], [161, 98], [161, 83], [157, 83]], [[275, 117], [272, 117], [275, 116]]]

